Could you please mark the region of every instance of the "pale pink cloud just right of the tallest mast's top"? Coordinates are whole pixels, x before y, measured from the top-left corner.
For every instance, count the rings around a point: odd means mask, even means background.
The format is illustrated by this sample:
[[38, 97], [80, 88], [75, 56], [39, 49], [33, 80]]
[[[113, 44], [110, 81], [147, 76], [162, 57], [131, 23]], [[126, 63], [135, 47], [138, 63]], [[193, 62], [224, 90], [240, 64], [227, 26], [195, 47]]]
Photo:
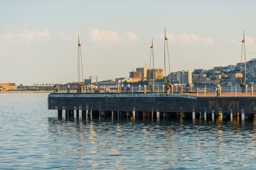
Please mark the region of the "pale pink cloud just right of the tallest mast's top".
[[[180, 35], [167, 34], [166, 36], [169, 39], [169, 41], [172, 43], [179, 43], [179, 44], [186, 44], [186, 45], [191, 45], [191, 44], [214, 45], [215, 44], [213, 38], [201, 37], [201, 36], [195, 35], [195, 34], [188, 35], [186, 33], [181, 33]], [[164, 37], [164, 36], [161, 35], [161, 38], [162, 37]]]

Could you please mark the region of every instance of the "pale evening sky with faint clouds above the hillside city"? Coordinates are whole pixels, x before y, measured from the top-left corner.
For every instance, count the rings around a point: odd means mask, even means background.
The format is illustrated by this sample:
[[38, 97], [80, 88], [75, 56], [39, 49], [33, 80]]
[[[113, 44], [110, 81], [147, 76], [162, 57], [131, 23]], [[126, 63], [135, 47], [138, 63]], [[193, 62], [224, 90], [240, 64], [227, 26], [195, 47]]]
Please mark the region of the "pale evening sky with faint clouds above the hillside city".
[[[256, 1], [0, 1], [0, 83], [78, 81], [78, 34], [84, 78], [129, 77], [164, 68], [166, 28], [171, 72], [240, 62], [245, 30], [247, 60], [256, 58]], [[146, 63], [146, 64], [145, 64]]]

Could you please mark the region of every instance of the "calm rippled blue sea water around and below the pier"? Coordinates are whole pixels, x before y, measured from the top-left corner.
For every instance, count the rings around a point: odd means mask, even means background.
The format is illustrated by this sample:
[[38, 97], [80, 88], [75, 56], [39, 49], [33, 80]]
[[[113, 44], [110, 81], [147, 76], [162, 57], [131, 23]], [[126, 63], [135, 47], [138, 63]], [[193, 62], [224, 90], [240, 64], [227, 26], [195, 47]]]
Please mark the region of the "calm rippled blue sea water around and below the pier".
[[58, 120], [47, 97], [0, 94], [0, 169], [256, 169], [252, 120]]

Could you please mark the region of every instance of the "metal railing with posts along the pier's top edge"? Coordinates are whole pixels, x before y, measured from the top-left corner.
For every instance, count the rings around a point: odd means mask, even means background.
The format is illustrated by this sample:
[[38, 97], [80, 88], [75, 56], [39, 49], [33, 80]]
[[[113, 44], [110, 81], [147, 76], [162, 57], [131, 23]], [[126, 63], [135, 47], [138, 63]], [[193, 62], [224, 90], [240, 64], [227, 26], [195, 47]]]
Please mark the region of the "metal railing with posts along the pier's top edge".
[[[60, 86], [58, 93], [120, 93], [120, 94], [188, 94], [193, 96], [254, 96], [254, 86], [220, 86], [219, 89], [214, 89], [214, 86], [178, 86], [174, 85], [171, 88], [164, 85], [146, 86], [146, 85], [131, 85], [130, 87], [120, 85], [117, 86], [94, 86], [87, 85], [82, 90], [77, 90], [76, 86]], [[57, 93], [55, 91], [55, 93]]]

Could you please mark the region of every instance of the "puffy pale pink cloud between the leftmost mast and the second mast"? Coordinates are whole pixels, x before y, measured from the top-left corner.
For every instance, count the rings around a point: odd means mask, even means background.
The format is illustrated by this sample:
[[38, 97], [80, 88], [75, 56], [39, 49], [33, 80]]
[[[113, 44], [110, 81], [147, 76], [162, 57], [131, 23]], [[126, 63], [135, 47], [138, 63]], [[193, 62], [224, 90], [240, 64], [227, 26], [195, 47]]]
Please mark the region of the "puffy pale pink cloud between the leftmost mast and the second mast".
[[136, 42], [139, 38], [135, 33], [125, 32], [119, 34], [113, 30], [99, 30], [93, 29], [90, 33], [90, 38], [93, 42]]

